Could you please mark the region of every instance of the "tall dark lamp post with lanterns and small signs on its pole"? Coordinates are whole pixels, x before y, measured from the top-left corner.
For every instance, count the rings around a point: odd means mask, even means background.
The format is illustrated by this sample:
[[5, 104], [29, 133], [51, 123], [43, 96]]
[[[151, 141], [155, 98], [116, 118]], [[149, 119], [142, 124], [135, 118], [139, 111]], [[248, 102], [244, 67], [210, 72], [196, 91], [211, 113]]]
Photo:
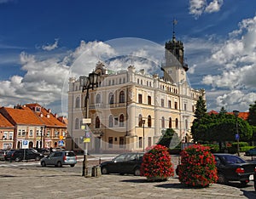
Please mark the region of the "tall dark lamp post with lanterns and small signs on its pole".
[[94, 89], [94, 86], [97, 87], [97, 79], [98, 79], [98, 74], [96, 72], [92, 72], [89, 74], [89, 77], [85, 76], [80, 76], [79, 77], [79, 82], [80, 82], [80, 87], [82, 87], [82, 93], [86, 90], [86, 95], [85, 95], [85, 111], [83, 111], [83, 116], [85, 118], [85, 149], [84, 149], [84, 161], [83, 161], [83, 170], [82, 170], [82, 176], [88, 177], [88, 160], [87, 160], [87, 155], [88, 155], [88, 142], [86, 138], [88, 137], [88, 122], [89, 120], [89, 107], [88, 107], [88, 99], [89, 99], [89, 89], [92, 88]]

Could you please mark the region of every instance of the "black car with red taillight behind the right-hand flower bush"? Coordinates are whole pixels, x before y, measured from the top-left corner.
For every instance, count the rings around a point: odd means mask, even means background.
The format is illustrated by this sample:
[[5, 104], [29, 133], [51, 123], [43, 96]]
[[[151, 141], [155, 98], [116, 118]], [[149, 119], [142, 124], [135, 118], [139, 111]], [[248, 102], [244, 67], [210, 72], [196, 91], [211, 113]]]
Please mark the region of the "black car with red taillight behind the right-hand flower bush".
[[225, 184], [229, 181], [240, 181], [241, 185], [247, 185], [250, 175], [256, 171], [256, 164], [246, 162], [239, 156], [231, 154], [213, 154], [218, 169], [218, 183]]

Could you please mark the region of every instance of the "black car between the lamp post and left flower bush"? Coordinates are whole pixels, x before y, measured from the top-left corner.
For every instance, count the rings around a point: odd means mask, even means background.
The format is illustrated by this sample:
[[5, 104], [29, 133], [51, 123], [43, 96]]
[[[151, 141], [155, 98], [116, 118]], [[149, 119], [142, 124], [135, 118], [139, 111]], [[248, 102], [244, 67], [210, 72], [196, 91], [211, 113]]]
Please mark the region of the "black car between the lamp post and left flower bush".
[[140, 168], [143, 162], [144, 153], [124, 153], [113, 158], [112, 161], [102, 162], [100, 167], [102, 174], [108, 173], [133, 173], [140, 175]]

